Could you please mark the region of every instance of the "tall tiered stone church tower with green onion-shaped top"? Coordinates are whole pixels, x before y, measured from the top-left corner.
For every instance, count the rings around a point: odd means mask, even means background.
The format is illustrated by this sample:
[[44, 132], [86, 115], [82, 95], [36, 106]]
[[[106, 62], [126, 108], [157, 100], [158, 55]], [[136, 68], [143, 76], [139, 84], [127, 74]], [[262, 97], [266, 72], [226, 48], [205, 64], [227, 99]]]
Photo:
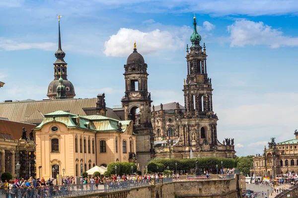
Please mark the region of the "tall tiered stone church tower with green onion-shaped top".
[[193, 22], [190, 51], [187, 45], [187, 77], [184, 79], [183, 143], [185, 146], [208, 145], [212, 150], [218, 145], [217, 120], [212, 106], [212, 84], [207, 74], [207, 54], [197, 32], [196, 17]]

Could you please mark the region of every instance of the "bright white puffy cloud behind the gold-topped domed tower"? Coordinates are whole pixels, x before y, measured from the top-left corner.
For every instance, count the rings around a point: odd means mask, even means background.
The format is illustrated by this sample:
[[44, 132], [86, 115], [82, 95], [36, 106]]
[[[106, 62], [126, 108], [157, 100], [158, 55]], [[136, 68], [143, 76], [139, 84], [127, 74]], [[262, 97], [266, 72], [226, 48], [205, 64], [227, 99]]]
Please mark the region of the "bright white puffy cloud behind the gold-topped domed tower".
[[142, 32], [121, 28], [116, 35], [110, 36], [110, 39], [105, 42], [104, 54], [106, 56], [127, 56], [132, 53], [135, 41], [137, 49], [144, 55], [184, 47], [183, 38], [169, 31], [155, 29], [150, 32]]

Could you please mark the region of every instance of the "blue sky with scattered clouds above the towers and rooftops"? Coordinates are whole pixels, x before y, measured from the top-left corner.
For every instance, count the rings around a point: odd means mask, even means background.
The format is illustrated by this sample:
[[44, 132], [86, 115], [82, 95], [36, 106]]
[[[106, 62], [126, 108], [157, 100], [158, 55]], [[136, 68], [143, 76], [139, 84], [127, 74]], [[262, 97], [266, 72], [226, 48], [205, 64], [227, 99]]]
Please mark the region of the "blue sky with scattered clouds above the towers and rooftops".
[[157, 105], [183, 104], [193, 12], [213, 83], [219, 140], [238, 155], [293, 139], [298, 128], [295, 0], [0, 0], [0, 100], [46, 98], [58, 48], [58, 14], [76, 98], [121, 104], [124, 68], [137, 42]]

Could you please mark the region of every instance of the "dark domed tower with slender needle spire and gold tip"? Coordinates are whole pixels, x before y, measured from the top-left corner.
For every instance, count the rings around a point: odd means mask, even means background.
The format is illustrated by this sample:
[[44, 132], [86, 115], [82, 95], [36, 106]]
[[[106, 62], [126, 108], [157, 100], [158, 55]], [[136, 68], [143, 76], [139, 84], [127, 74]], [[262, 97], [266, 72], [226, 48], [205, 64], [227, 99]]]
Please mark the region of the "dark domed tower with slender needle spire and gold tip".
[[66, 97], [69, 99], [73, 99], [75, 96], [74, 93], [74, 85], [67, 80], [67, 63], [64, 61], [65, 52], [61, 48], [61, 35], [60, 35], [60, 15], [58, 15], [58, 28], [59, 28], [59, 41], [58, 41], [58, 50], [55, 52], [55, 56], [57, 60], [54, 63], [54, 80], [50, 83], [48, 87], [47, 96], [50, 99], [56, 99], [57, 96], [57, 86], [59, 84], [59, 78], [63, 79], [63, 85], [66, 90]]

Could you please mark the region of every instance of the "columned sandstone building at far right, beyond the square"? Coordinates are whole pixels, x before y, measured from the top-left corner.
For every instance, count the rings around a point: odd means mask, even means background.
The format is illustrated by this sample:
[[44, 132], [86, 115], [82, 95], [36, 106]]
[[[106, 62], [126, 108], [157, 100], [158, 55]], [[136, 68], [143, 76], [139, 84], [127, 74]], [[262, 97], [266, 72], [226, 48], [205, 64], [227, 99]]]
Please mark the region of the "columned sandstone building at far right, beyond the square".
[[268, 142], [268, 148], [264, 148], [262, 155], [253, 157], [254, 167], [251, 175], [271, 177], [284, 174], [298, 174], [298, 131], [295, 139], [281, 143], [275, 143], [275, 138]]

